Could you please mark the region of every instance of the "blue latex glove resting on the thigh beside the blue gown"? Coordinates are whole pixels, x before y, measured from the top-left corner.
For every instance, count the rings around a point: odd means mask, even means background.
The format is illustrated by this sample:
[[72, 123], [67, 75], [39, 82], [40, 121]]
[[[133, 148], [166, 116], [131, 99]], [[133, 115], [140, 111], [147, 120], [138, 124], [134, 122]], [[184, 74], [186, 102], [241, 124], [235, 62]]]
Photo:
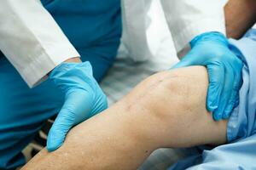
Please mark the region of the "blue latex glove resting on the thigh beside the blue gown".
[[241, 88], [241, 59], [230, 51], [229, 42], [223, 34], [207, 32], [195, 37], [191, 50], [173, 68], [189, 65], [207, 66], [209, 87], [207, 110], [219, 121], [230, 117], [238, 105]]

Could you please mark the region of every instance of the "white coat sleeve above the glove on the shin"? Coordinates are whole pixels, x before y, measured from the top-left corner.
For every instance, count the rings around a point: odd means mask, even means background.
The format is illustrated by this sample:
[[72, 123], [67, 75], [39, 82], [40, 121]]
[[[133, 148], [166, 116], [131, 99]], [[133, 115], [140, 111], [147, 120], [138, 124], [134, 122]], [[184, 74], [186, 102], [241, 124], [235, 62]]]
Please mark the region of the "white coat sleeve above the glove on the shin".
[[79, 57], [39, 0], [1, 0], [0, 50], [29, 87], [42, 82], [56, 65]]

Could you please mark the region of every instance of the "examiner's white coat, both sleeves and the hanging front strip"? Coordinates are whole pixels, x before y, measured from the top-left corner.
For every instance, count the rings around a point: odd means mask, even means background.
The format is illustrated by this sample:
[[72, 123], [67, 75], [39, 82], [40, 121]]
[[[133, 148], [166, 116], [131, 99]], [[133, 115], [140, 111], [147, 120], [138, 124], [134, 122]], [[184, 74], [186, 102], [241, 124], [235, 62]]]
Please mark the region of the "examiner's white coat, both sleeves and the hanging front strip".
[[[131, 58], [148, 59], [146, 14], [152, 0], [122, 0], [123, 41]], [[177, 52], [205, 31], [225, 33], [226, 0], [161, 0]], [[1, 0], [0, 50], [30, 87], [66, 59], [79, 56], [39, 0]]]

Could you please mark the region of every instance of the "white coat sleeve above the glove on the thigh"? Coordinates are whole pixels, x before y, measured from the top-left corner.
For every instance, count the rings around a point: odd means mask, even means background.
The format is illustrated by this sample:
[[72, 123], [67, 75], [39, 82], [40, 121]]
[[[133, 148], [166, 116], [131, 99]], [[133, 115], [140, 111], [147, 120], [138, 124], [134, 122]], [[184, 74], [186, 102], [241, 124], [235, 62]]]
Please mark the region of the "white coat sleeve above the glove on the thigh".
[[203, 32], [225, 34], [225, 3], [227, 0], [161, 0], [177, 53]]

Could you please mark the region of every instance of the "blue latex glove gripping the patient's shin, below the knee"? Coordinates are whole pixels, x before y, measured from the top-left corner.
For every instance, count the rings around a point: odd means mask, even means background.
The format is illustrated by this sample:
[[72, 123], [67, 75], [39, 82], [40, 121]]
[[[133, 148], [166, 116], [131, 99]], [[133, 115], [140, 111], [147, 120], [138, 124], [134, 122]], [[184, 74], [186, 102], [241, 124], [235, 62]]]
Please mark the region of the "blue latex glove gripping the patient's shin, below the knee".
[[89, 62], [62, 63], [49, 75], [65, 94], [65, 102], [49, 131], [47, 149], [61, 147], [68, 131], [75, 125], [108, 107], [107, 97], [92, 76]]

